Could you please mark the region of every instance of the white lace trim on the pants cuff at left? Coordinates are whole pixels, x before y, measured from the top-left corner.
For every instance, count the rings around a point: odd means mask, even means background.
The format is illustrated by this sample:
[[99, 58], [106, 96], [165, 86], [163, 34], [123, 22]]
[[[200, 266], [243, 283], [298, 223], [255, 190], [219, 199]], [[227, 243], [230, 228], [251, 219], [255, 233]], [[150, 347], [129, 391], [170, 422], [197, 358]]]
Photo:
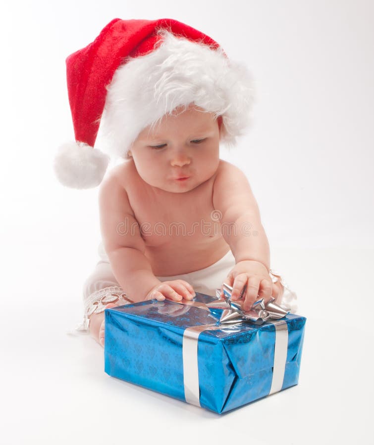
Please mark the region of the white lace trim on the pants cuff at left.
[[116, 303], [118, 306], [128, 305], [134, 303], [130, 300], [123, 289], [119, 286], [109, 286], [104, 289], [100, 289], [91, 294], [84, 301], [85, 314], [83, 316], [83, 322], [76, 326], [76, 330], [79, 332], [89, 332], [90, 329], [90, 316], [93, 313], [100, 313], [105, 311], [105, 307], [108, 303]]

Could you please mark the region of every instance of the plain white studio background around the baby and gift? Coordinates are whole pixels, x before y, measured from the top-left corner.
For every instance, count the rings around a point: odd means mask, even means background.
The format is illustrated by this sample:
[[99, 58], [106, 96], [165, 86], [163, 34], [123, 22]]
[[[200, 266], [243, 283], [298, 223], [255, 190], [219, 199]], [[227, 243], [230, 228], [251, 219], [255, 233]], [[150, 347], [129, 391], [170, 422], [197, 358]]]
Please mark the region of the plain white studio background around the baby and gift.
[[[1, 11], [1, 436], [6, 444], [373, 443], [374, 3], [18, 1]], [[65, 58], [114, 17], [174, 18], [250, 67], [247, 174], [271, 263], [308, 318], [299, 385], [219, 416], [104, 373], [67, 335], [98, 261], [97, 189], [62, 187]]]

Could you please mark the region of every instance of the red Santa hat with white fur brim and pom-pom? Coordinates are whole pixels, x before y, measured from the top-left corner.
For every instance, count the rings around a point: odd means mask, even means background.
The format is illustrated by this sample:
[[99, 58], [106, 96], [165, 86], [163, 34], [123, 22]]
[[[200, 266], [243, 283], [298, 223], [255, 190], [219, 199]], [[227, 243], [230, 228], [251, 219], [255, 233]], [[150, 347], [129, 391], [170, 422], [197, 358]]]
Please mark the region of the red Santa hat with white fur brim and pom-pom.
[[251, 124], [249, 71], [228, 60], [210, 37], [176, 20], [116, 18], [67, 57], [66, 72], [76, 142], [59, 147], [54, 171], [69, 187], [99, 185], [109, 156], [128, 157], [137, 135], [176, 107], [193, 103], [221, 116], [227, 144]]

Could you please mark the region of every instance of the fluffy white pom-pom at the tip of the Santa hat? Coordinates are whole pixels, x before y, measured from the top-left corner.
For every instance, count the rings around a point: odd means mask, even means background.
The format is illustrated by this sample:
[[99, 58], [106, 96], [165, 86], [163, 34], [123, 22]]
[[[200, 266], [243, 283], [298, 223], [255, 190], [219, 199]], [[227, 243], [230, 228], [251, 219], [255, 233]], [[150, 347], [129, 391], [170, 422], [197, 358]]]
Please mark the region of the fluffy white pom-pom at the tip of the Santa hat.
[[61, 182], [71, 188], [92, 188], [102, 181], [109, 157], [83, 142], [67, 142], [58, 148], [54, 172]]

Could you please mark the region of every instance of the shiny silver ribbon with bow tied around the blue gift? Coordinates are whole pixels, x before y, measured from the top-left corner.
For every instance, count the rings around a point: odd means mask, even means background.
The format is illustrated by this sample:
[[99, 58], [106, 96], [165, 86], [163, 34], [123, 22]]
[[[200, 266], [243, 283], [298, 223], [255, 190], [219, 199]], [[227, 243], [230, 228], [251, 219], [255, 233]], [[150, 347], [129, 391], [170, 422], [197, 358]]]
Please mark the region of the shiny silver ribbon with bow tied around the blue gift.
[[[199, 336], [206, 330], [218, 330], [222, 327], [247, 321], [256, 325], [263, 324], [265, 321], [275, 326], [275, 347], [274, 347], [274, 364], [273, 375], [269, 395], [276, 393], [282, 389], [284, 371], [287, 360], [288, 349], [288, 327], [283, 318], [289, 311], [284, 311], [280, 306], [273, 303], [272, 299], [267, 305], [264, 300], [258, 300], [254, 303], [250, 311], [243, 310], [244, 301], [240, 300], [246, 286], [244, 286], [239, 300], [231, 301], [232, 287], [223, 283], [224, 298], [220, 298], [220, 289], [216, 289], [217, 300], [211, 303], [199, 303], [193, 301], [183, 302], [190, 306], [196, 306], [209, 311], [209, 308], [223, 309], [219, 320], [219, 325], [204, 324], [200, 326], [191, 326], [183, 332], [182, 355], [183, 355], [183, 384], [184, 396], [186, 402], [196, 406], [200, 405], [200, 388], [199, 388], [199, 366], [198, 366], [198, 342]], [[270, 321], [274, 320], [274, 321]], [[223, 326], [222, 326], [223, 325]]]

